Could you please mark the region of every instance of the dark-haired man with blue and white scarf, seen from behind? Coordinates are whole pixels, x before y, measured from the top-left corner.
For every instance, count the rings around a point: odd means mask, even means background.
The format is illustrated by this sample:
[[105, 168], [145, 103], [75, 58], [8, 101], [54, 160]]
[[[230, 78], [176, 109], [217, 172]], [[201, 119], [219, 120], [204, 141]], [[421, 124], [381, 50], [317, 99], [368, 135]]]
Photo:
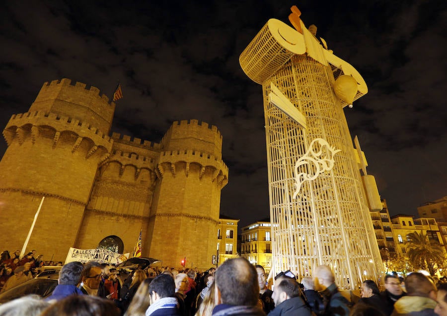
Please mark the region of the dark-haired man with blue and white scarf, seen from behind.
[[180, 316], [175, 296], [174, 279], [162, 273], [149, 284], [149, 308], [146, 316]]

